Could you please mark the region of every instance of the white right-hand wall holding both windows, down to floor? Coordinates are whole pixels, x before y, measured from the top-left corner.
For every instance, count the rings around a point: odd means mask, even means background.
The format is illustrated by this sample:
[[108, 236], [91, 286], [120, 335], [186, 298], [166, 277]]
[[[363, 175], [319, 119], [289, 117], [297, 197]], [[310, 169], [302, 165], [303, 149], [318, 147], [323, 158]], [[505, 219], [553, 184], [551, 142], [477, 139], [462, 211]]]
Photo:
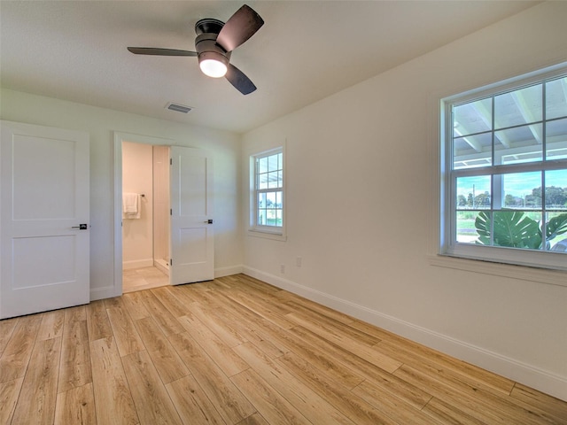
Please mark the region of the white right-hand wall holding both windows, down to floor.
[[245, 165], [286, 140], [288, 237], [245, 236], [245, 272], [567, 399], [567, 275], [436, 256], [439, 99], [567, 60], [566, 17], [540, 4], [246, 134]]

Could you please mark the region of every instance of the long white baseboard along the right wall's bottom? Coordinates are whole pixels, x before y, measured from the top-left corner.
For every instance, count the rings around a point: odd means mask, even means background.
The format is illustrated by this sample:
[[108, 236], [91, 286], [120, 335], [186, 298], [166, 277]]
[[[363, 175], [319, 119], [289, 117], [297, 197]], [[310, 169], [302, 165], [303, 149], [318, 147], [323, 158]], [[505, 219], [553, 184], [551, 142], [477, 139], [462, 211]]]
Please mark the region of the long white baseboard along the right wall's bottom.
[[379, 313], [362, 305], [356, 305], [345, 299], [308, 288], [274, 274], [264, 273], [251, 267], [244, 267], [242, 273], [268, 282], [283, 290], [289, 290], [319, 304], [327, 305], [341, 313], [349, 314], [361, 321], [366, 321], [379, 328], [384, 328], [397, 335], [404, 336], [416, 343], [439, 350], [439, 352], [445, 352], [450, 356], [507, 377], [517, 383], [523, 383], [555, 398], [567, 401], [567, 377], [565, 376], [555, 375], [517, 359], [485, 350], [482, 347], [460, 341], [451, 336], [439, 334], [408, 321], [401, 321], [388, 314]]

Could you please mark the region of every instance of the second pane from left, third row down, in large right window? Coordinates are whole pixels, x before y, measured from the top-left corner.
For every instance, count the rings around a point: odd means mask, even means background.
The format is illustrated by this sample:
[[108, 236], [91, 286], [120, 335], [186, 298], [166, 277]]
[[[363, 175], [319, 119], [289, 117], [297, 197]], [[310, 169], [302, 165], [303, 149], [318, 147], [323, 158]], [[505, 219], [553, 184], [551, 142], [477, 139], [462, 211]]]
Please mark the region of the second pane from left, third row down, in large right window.
[[541, 173], [502, 174], [504, 208], [541, 208]]

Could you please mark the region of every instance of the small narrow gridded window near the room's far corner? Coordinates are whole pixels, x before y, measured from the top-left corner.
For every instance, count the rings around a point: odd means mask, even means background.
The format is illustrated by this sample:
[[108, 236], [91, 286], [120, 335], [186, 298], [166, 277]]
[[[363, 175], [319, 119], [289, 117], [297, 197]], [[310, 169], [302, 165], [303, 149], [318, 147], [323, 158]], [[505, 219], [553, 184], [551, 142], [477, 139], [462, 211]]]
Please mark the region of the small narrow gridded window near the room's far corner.
[[278, 148], [252, 157], [254, 175], [254, 214], [252, 228], [282, 234], [283, 228], [283, 150]]

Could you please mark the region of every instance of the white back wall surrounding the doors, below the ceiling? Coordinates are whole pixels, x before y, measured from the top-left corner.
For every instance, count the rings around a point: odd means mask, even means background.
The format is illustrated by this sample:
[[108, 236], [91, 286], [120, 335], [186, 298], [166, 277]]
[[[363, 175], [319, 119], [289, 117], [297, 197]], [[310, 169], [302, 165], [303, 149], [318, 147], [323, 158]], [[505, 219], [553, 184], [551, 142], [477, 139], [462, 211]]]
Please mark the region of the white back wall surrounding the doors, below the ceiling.
[[[214, 161], [215, 274], [242, 269], [239, 136], [229, 132], [2, 89], [2, 120], [70, 128], [90, 135], [91, 299], [113, 293], [114, 132], [168, 138], [180, 146], [206, 149]], [[121, 267], [121, 264], [118, 265]], [[121, 285], [120, 285], [121, 287]]]

